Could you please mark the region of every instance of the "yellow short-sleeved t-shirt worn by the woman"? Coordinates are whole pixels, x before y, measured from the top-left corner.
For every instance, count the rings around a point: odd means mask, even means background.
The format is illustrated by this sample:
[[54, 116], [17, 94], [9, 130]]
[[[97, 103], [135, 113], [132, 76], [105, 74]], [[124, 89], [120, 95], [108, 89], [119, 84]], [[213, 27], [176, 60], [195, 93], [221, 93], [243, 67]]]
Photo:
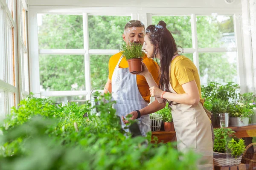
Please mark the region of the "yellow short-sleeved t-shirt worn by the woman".
[[200, 77], [198, 74], [198, 69], [196, 68], [195, 64], [185, 56], [177, 56], [171, 62], [171, 72], [170, 72], [170, 83], [172, 85], [173, 90], [177, 94], [184, 94], [185, 91], [183, 90], [183, 84], [187, 82], [191, 82], [195, 80], [199, 96], [200, 102], [204, 105], [204, 99], [202, 99], [201, 94], [201, 84], [200, 84]]

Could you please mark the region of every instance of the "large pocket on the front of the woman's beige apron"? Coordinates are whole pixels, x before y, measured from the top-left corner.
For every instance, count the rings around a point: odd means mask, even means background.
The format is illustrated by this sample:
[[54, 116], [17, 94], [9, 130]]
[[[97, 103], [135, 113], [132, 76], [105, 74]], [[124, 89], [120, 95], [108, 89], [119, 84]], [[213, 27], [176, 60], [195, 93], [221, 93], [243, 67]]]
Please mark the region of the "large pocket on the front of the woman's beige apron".
[[178, 148], [196, 148], [196, 118], [173, 121], [177, 136]]

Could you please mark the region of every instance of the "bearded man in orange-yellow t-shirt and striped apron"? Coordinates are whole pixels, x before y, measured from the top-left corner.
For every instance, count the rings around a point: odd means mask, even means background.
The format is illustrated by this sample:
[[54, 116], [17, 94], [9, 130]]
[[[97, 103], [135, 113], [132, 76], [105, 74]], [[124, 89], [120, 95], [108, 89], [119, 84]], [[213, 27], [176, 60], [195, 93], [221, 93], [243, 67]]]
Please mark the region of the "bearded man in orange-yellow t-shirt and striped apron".
[[[140, 43], [143, 45], [145, 26], [138, 20], [131, 20], [124, 28], [123, 40], [127, 44]], [[155, 82], [158, 84], [159, 69], [157, 64], [148, 59], [145, 55], [143, 62], [151, 72]], [[138, 119], [138, 125], [143, 136], [150, 131], [149, 113], [154, 113], [165, 107], [164, 103], [157, 100], [150, 105], [150, 91], [144, 76], [131, 74], [128, 70], [128, 62], [119, 52], [109, 59], [109, 76], [105, 88], [112, 93], [112, 98], [116, 101], [114, 108], [116, 114], [124, 117], [131, 114], [131, 119]], [[122, 127], [125, 127], [122, 121]]]

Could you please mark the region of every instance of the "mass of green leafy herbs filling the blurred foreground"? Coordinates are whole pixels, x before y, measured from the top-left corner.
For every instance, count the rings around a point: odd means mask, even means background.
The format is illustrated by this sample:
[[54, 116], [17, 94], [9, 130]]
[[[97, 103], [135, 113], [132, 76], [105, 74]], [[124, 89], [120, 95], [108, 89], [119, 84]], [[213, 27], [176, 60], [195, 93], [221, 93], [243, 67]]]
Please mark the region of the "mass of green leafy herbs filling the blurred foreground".
[[[110, 100], [110, 95], [105, 98]], [[0, 169], [197, 169], [195, 153], [183, 155], [171, 143], [145, 148], [143, 137], [126, 139], [112, 104], [101, 102], [101, 116], [96, 117], [90, 115], [89, 102], [56, 106], [49, 99], [28, 96], [18, 109], [12, 108], [1, 127]], [[89, 117], [84, 118], [84, 113]]]

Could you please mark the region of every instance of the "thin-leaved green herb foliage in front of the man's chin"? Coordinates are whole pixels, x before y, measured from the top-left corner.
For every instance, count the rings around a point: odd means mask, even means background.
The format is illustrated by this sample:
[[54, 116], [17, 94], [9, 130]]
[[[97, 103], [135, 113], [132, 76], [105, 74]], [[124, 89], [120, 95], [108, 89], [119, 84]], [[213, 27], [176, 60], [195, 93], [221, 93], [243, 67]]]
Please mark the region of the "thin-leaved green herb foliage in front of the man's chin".
[[126, 60], [134, 58], [143, 58], [144, 53], [142, 51], [142, 45], [140, 43], [123, 44], [120, 50], [121, 54]]

